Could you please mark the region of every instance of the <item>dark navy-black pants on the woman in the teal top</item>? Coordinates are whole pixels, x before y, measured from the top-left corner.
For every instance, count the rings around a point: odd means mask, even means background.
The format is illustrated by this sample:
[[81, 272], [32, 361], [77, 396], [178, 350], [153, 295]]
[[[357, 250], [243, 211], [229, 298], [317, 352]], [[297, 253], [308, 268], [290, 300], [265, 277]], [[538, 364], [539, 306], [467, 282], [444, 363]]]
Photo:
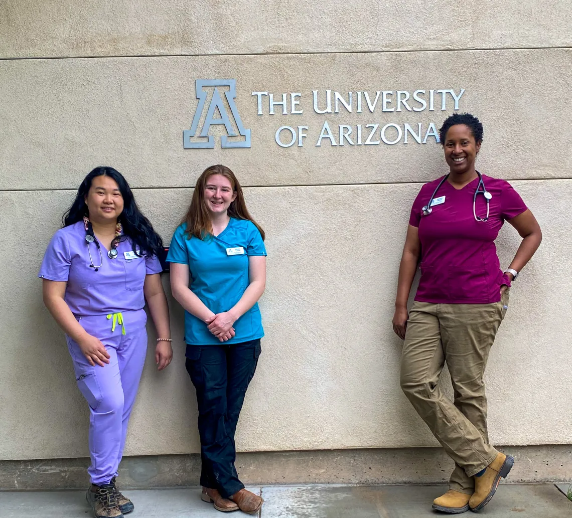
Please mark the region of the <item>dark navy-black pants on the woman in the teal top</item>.
[[235, 432], [260, 352], [260, 340], [186, 348], [185, 367], [197, 389], [201, 485], [223, 497], [244, 488], [235, 468]]

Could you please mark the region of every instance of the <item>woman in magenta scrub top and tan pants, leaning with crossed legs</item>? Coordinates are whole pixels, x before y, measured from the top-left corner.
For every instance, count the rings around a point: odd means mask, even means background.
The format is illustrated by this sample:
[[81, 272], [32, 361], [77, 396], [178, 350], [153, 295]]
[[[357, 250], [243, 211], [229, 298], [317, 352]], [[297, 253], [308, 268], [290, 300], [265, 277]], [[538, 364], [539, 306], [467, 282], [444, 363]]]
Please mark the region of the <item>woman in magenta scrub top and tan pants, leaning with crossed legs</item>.
[[[403, 392], [455, 461], [450, 489], [435, 499], [433, 508], [461, 513], [482, 509], [514, 463], [488, 444], [483, 374], [509, 306], [511, 281], [536, 252], [542, 233], [509, 182], [475, 169], [483, 141], [483, 126], [476, 117], [451, 115], [439, 136], [449, 173], [423, 185], [415, 198], [393, 327], [405, 340]], [[503, 270], [494, 241], [505, 221], [522, 242]], [[419, 288], [408, 312], [419, 263]], [[438, 384], [445, 362], [454, 401]]]

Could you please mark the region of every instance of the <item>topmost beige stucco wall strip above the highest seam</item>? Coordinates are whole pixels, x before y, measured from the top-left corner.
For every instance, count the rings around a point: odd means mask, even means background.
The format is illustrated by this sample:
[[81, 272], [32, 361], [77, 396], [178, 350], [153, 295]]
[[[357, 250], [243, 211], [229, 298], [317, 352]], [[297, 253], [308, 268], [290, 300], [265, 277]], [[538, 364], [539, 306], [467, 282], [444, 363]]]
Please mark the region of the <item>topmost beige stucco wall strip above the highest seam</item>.
[[569, 47], [568, 0], [3, 0], [1, 57]]

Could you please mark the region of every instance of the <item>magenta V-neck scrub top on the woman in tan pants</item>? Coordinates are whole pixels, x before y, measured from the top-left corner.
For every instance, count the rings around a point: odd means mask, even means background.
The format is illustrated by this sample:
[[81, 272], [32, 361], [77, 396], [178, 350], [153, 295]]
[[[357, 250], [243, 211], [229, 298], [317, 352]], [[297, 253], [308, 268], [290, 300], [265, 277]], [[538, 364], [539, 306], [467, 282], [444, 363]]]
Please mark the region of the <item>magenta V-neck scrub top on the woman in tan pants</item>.
[[[421, 279], [415, 300], [434, 304], [498, 302], [503, 272], [495, 239], [505, 220], [525, 212], [525, 202], [509, 182], [483, 174], [484, 186], [492, 194], [487, 221], [476, 221], [472, 212], [478, 178], [463, 189], [443, 182], [434, 199], [444, 197], [444, 202], [433, 205], [431, 214], [423, 216], [423, 206], [442, 178], [423, 185], [411, 209], [409, 224], [418, 227], [421, 242]], [[486, 214], [486, 200], [479, 194], [476, 215]]]

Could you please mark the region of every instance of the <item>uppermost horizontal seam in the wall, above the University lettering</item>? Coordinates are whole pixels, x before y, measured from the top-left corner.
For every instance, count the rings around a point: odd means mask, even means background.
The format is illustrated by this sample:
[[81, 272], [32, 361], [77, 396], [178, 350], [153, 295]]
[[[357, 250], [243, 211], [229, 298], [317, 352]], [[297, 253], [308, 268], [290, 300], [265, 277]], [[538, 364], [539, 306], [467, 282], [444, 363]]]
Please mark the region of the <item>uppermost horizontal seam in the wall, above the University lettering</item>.
[[572, 49], [572, 46], [550, 47], [467, 47], [460, 49], [397, 49], [397, 50], [335, 50], [335, 51], [300, 51], [300, 52], [259, 52], [259, 53], [220, 53], [220, 54], [117, 54], [117, 55], [78, 55], [78, 56], [12, 56], [0, 57], [0, 61], [22, 61], [35, 59], [113, 59], [113, 58], [180, 58], [180, 57], [216, 57], [216, 56], [271, 56], [271, 55], [320, 55], [320, 54], [398, 54], [415, 52], [478, 52], [491, 50], [561, 50]]

